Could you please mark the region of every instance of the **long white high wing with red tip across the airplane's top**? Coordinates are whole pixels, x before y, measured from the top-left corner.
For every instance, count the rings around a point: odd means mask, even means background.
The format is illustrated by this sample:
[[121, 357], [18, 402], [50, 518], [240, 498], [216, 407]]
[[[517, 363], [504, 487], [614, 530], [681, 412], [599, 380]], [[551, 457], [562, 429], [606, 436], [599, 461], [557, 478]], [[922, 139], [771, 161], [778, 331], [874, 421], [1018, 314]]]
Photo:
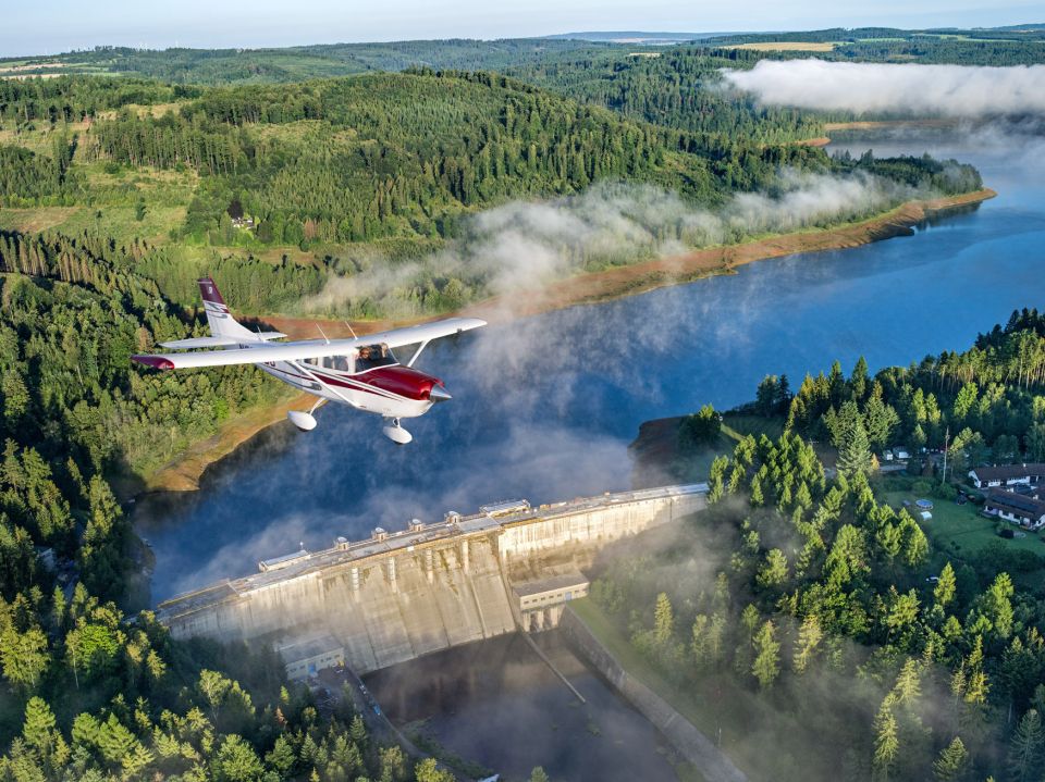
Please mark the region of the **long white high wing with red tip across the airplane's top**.
[[[344, 356], [362, 345], [378, 345], [384, 343], [391, 348], [416, 343], [427, 343], [431, 339], [447, 337], [460, 332], [487, 325], [478, 318], [450, 318], [433, 323], [422, 323], [405, 328], [394, 328], [379, 334], [367, 334], [354, 339], [309, 339], [307, 342], [280, 343], [276, 345], [259, 344], [258, 347], [232, 348], [226, 350], [199, 350], [187, 353], [151, 353], [148, 356], [132, 356], [146, 367], [159, 370], [193, 369], [197, 367], [231, 367], [233, 364], [258, 364], [270, 361], [302, 361], [318, 359], [323, 356]], [[187, 342], [187, 340], [185, 340]]]

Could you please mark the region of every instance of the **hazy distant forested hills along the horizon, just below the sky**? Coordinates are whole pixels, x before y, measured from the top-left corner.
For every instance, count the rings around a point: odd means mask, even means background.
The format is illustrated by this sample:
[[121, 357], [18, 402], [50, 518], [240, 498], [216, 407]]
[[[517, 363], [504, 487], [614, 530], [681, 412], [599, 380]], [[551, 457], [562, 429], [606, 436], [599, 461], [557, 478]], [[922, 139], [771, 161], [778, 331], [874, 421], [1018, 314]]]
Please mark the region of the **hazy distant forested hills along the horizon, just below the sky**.
[[[51, 57], [23, 58], [26, 73], [99, 74], [158, 79], [179, 85], [291, 83], [368, 71], [434, 70], [497, 71], [555, 70], [564, 63], [613, 63], [627, 69], [650, 54], [673, 54], [678, 48], [699, 48], [712, 57], [794, 58], [802, 51], [740, 51], [732, 47], [774, 41], [832, 44], [834, 50], [816, 57], [860, 62], [950, 63], [958, 65], [1029, 65], [1043, 62], [1041, 24], [999, 28], [899, 29], [893, 27], [828, 28], [789, 33], [700, 36], [680, 47], [617, 44], [608, 40], [509, 38], [501, 40], [406, 40], [384, 44], [332, 44], [280, 49], [131, 49], [99, 46]], [[636, 57], [639, 54], [640, 57]], [[650, 58], [655, 59], [655, 58]], [[4, 60], [0, 59], [0, 66]], [[33, 66], [36, 65], [34, 70]], [[575, 96], [580, 97], [580, 96]]]

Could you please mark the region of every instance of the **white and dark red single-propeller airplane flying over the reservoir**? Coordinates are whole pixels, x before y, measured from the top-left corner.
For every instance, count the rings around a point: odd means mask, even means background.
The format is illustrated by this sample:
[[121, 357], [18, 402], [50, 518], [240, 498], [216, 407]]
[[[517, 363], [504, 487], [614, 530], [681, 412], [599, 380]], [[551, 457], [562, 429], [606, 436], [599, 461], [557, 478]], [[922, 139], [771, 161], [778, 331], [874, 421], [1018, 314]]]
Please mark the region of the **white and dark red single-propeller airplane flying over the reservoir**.
[[[478, 318], [450, 318], [352, 339], [328, 339], [324, 335], [322, 339], [274, 343], [286, 335], [251, 332], [229, 312], [213, 280], [204, 277], [197, 282], [211, 336], [160, 345], [174, 350], [219, 349], [137, 355], [131, 360], [158, 370], [254, 364], [318, 397], [308, 412], [291, 410], [286, 414], [303, 432], [316, 429], [314, 413], [319, 407], [335, 401], [383, 417], [384, 436], [406, 445], [414, 436], [399, 420], [423, 415], [433, 405], [452, 398], [439, 377], [414, 369], [414, 362], [432, 339], [487, 325]], [[406, 345], [418, 347], [406, 363], [401, 363], [392, 349]]]

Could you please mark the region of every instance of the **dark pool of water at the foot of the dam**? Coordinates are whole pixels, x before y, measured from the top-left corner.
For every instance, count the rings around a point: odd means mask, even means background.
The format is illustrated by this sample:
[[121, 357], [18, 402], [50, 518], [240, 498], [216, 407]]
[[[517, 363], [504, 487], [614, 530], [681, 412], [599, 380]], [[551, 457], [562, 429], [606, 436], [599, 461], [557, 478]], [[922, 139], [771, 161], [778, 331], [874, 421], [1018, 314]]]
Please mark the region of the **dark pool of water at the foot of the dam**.
[[527, 780], [541, 766], [556, 780], [671, 782], [671, 745], [582, 662], [554, 630], [534, 636], [581, 704], [518, 635], [404, 662], [366, 678], [390, 719]]

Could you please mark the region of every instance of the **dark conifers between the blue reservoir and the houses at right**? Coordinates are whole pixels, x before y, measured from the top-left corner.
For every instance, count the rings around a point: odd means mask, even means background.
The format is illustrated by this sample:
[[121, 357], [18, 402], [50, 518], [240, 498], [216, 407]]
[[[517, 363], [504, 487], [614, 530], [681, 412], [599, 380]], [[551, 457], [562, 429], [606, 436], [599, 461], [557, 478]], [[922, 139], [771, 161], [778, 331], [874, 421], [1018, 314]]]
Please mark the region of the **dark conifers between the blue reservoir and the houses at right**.
[[[872, 452], [948, 447], [951, 468], [1045, 460], [1045, 319], [1012, 313], [966, 351], [889, 367], [873, 377], [861, 358], [847, 376], [839, 362], [807, 375], [792, 395], [767, 376], [745, 409], [783, 415], [803, 437], [832, 443], [872, 469]], [[949, 433], [949, 439], [948, 439]]]

